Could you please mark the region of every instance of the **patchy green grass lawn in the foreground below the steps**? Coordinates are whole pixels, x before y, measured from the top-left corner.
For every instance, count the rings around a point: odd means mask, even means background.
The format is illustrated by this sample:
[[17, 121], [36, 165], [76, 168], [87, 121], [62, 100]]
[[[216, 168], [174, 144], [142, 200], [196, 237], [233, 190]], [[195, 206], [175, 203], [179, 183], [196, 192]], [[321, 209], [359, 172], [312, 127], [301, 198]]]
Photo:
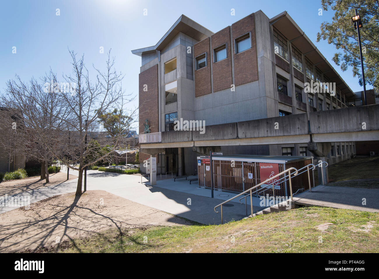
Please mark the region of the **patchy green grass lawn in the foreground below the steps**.
[[110, 229], [38, 252], [379, 252], [379, 214], [301, 207], [224, 225]]

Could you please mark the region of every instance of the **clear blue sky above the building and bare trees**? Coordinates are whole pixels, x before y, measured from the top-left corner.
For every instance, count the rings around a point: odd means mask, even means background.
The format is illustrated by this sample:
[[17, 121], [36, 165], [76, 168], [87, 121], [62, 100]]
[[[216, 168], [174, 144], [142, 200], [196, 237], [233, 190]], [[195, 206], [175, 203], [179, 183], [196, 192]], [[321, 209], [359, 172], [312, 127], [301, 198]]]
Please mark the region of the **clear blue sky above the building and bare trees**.
[[[56, 9], [60, 16], [56, 16]], [[147, 9], [147, 16], [143, 9]], [[235, 9], [235, 16], [230, 9]], [[225, 1], [225, 0], [64, 0], [7, 1], [0, 9], [0, 92], [7, 80], [20, 75], [24, 81], [39, 78], [50, 67], [61, 76], [72, 71], [69, 47], [85, 55], [88, 68], [105, 69], [106, 52], [116, 57], [116, 70], [124, 75], [123, 88], [138, 94], [141, 58], [131, 50], [155, 45], [181, 14], [217, 32], [248, 14], [262, 10], [268, 17], [287, 10], [305, 34], [334, 66], [353, 91], [363, 90], [351, 69], [342, 72], [331, 60], [335, 48], [326, 41], [316, 43], [321, 22], [330, 21], [333, 11], [323, 11], [320, 0]], [[16, 46], [17, 53], [12, 53]], [[99, 53], [104, 47], [104, 54]], [[92, 75], [94, 78], [95, 76]], [[371, 86], [368, 86], [368, 89]], [[138, 106], [138, 99], [132, 104]]]

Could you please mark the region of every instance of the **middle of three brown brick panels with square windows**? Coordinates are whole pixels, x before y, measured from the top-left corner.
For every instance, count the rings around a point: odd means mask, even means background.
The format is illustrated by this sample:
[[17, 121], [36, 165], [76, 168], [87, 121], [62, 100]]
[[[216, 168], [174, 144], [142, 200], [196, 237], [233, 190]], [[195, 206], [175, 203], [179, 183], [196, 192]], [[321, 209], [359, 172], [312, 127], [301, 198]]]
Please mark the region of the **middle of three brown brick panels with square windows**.
[[230, 88], [233, 83], [232, 80], [232, 52], [230, 48], [230, 28], [229, 26], [218, 31], [211, 36], [212, 39], [212, 61], [214, 61], [213, 49], [227, 44], [226, 56], [227, 58], [212, 64], [213, 74], [213, 92]]

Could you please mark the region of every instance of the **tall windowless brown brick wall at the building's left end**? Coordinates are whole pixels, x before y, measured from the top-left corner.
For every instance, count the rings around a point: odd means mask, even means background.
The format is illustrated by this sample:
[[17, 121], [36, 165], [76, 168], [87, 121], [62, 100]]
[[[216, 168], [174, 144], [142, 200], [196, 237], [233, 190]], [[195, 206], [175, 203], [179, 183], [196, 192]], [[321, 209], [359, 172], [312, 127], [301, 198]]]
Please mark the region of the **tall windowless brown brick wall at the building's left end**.
[[[147, 91], [143, 91], [144, 85]], [[158, 132], [158, 65], [139, 74], [139, 133], [144, 131], [144, 122], [149, 120], [150, 131]]]

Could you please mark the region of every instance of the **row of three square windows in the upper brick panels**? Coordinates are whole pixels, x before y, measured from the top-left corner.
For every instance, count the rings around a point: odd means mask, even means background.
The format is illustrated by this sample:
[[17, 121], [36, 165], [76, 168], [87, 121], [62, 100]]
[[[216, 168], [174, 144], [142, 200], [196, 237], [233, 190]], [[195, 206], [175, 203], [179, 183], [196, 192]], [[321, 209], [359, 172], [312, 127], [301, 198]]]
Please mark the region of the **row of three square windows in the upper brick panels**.
[[[243, 52], [251, 48], [251, 33], [246, 33], [234, 40], [235, 53]], [[227, 58], [228, 44], [223, 44], [213, 49], [213, 63]], [[195, 57], [195, 69], [199, 70], [208, 66], [207, 53]]]

